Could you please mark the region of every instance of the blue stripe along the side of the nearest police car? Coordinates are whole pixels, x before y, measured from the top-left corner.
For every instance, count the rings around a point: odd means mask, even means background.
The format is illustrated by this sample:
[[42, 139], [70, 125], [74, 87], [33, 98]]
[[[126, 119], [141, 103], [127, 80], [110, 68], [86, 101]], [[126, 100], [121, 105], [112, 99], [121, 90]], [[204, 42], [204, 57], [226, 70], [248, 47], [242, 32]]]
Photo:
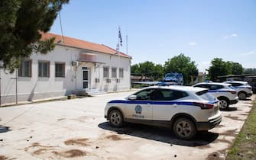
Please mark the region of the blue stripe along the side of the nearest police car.
[[[190, 105], [193, 106], [193, 102], [191, 101], [125, 101], [125, 100], [114, 100], [109, 101], [110, 104], [159, 104], [159, 105]], [[209, 101], [208, 104], [215, 104], [218, 101]]]

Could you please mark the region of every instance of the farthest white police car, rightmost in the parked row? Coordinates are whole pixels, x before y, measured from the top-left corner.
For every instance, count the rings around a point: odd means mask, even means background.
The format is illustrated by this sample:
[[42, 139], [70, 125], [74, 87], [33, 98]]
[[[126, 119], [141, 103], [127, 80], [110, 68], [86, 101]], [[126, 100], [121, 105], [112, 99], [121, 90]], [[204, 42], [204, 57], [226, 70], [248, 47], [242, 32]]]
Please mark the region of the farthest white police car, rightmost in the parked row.
[[235, 90], [238, 91], [238, 98], [241, 100], [245, 100], [246, 98], [251, 97], [252, 95], [252, 88], [251, 85], [248, 84], [248, 82], [227, 81], [223, 83], [231, 84], [232, 87], [234, 87]]

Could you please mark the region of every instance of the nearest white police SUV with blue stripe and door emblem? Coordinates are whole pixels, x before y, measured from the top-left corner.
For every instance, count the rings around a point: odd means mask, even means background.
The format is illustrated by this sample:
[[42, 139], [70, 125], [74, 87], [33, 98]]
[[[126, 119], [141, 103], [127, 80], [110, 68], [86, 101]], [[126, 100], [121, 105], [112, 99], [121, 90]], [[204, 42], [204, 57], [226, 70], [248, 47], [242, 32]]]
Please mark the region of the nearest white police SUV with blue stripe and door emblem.
[[124, 122], [170, 127], [180, 139], [191, 139], [222, 121], [219, 101], [208, 89], [180, 85], [151, 86], [109, 101], [105, 118], [115, 127]]

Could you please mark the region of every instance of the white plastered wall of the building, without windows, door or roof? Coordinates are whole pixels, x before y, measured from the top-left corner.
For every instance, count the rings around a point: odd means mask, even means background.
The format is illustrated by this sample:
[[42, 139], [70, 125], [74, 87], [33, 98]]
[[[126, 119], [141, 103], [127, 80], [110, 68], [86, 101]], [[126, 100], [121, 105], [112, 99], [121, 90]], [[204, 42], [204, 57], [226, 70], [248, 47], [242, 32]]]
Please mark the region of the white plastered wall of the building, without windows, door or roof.
[[[83, 72], [82, 67], [90, 68], [91, 82], [89, 89], [99, 89], [105, 91], [124, 91], [130, 89], [130, 65], [128, 58], [120, 56], [119, 65], [124, 69], [124, 78], [117, 83], [112, 78], [111, 83], [106, 83], [103, 78], [103, 66], [109, 66], [109, 75], [111, 78], [111, 67], [117, 68], [118, 75], [118, 56], [110, 56], [105, 53], [97, 53], [97, 61], [104, 64], [95, 64], [92, 62], [79, 62], [79, 67], [74, 69], [71, 65], [73, 60], [79, 59], [79, 53], [82, 50], [65, 46], [56, 46], [53, 51], [46, 55], [33, 53], [31, 55], [31, 78], [18, 77], [18, 101], [31, 101], [41, 98], [59, 97], [73, 93], [73, 91], [83, 90]], [[38, 60], [50, 61], [50, 77], [38, 77]], [[55, 62], [65, 62], [65, 77], [55, 78]], [[76, 70], [76, 71], [75, 71]], [[5, 73], [0, 70], [1, 76], [1, 97], [2, 104], [15, 102], [16, 82], [15, 73]], [[119, 77], [119, 76], [118, 76]], [[99, 83], [95, 78], [100, 78]]]

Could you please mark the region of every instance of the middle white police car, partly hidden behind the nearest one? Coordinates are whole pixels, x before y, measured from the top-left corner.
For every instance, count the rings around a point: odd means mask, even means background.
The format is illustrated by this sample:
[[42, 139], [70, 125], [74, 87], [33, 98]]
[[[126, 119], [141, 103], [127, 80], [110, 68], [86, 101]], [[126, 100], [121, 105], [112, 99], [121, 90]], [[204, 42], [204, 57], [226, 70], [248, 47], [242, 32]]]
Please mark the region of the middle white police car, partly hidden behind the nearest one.
[[238, 94], [231, 84], [217, 82], [201, 82], [193, 85], [193, 87], [208, 88], [209, 94], [212, 94], [220, 101], [220, 109], [228, 108], [229, 104], [238, 103]]

